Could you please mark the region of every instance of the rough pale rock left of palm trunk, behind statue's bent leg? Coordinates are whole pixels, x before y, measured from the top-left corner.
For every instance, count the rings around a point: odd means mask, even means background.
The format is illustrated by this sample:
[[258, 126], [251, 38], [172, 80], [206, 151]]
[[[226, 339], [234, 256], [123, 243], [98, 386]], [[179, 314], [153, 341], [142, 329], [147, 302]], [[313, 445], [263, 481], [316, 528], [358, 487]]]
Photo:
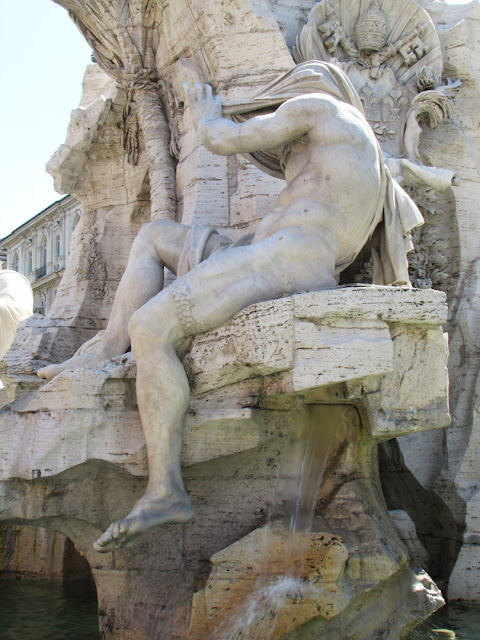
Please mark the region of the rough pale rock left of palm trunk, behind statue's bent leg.
[[65, 144], [48, 164], [57, 190], [75, 194], [83, 215], [48, 316], [23, 322], [2, 362], [9, 401], [35, 387], [29, 374], [70, 357], [105, 326], [130, 246], [149, 218], [145, 162], [125, 163], [120, 145], [124, 102], [115, 82], [90, 65]]

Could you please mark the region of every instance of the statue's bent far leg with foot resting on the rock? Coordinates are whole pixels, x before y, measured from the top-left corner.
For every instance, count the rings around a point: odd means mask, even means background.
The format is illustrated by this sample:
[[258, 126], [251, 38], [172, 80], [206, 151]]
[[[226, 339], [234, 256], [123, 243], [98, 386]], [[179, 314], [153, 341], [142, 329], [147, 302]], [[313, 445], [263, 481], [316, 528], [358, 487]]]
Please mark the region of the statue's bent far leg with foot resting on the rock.
[[39, 369], [37, 375], [51, 380], [66, 369], [82, 365], [95, 367], [103, 360], [125, 353], [130, 344], [128, 322], [132, 314], [163, 289], [164, 266], [176, 273], [188, 229], [185, 225], [169, 221], [153, 221], [144, 225], [130, 250], [103, 336], [94, 338], [91, 345], [84, 345], [69, 360]]

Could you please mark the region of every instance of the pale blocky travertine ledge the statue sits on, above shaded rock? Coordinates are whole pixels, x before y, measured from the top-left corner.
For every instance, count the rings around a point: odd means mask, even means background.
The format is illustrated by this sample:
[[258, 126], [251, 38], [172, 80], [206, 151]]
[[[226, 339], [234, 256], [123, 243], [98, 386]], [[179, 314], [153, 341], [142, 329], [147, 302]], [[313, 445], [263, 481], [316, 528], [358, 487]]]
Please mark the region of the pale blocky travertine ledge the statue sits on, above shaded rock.
[[[443, 293], [389, 287], [244, 309], [197, 336], [185, 357], [194, 393], [183, 465], [257, 447], [255, 407], [288, 408], [297, 396], [355, 405], [375, 439], [446, 426], [445, 319]], [[126, 354], [101, 370], [66, 371], [4, 408], [1, 478], [53, 476], [93, 459], [146, 476], [135, 372]]]

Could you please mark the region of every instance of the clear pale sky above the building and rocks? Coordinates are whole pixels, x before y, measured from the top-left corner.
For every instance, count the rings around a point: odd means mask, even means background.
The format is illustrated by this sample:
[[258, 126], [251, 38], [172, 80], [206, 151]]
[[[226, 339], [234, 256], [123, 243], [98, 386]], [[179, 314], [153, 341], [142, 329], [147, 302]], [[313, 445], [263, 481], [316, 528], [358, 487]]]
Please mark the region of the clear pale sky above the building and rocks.
[[0, 238], [63, 197], [45, 164], [65, 140], [90, 54], [65, 9], [52, 0], [3, 3]]

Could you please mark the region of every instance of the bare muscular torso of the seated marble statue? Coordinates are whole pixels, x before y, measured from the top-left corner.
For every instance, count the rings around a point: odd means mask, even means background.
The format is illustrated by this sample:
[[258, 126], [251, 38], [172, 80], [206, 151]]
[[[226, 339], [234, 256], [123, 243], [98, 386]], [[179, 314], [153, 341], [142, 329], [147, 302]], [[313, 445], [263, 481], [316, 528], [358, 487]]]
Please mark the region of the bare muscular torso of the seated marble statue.
[[[255, 242], [288, 227], [330, 233], [340, 253], [370, 224], [378, 203], [381, 162], [375, 138], [353, 107], [314, 122], [281, 151], [287, 186], [260, 223]], [[350, 117], [351, 116], [351, 117]]]

